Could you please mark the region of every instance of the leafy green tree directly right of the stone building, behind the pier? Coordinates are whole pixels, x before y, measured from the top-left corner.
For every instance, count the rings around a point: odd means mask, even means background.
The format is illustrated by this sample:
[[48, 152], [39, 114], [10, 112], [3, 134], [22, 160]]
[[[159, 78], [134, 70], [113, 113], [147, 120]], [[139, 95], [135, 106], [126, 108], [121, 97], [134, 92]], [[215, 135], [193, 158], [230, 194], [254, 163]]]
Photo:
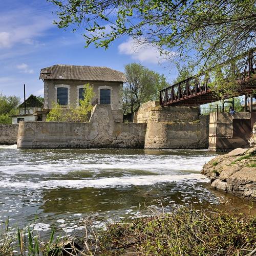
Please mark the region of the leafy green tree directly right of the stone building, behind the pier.
[[124, 66], [127, 82], [123, 87], [123, 112], [133, 113], [148, 100], [159, 98], [159, 91], [168, 86], [164, 75], [149, 70], [139, 63]]

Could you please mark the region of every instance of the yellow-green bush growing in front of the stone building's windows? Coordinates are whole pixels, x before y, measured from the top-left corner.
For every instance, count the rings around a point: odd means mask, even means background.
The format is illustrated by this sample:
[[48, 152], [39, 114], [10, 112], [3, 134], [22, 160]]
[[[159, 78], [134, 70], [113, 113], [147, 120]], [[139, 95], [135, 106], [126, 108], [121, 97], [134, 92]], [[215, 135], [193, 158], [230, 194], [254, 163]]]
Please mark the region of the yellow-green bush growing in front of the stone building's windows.
[[63, 108], [59, 103], [52, 103], [52, 110], [47, 115], [49, 122], [86, 122], [88, 115], [92, 111], [92, 99], [95, 96], [93, 87], [87, 83], [83, 86], [83, 99], [80, 99], [79, 106], [68, 109]]

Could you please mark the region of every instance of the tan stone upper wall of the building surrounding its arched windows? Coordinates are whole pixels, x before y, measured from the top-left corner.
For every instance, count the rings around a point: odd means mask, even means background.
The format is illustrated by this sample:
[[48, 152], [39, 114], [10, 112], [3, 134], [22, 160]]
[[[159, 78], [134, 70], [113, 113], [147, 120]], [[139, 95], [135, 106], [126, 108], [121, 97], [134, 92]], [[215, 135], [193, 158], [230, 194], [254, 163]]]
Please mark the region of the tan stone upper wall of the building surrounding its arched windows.
[[78, 90], [84, 84], [90, 83], [94, 88], [95, 99], [100, 98], [100, 89], [111, 90], [111, 108], [112, 110], [122, 109], [122, 87], [121, 82], [104, 82], [104, 81], [84, 81], [84, 80], [66, 80], [66, 79], [45, 79], [45, 104], [44, 108], [51, 109], [52, 103], [57, 102], [57, 87], [67, 87], [69, 89], [68, 104], [73, 107], [79, 104]]

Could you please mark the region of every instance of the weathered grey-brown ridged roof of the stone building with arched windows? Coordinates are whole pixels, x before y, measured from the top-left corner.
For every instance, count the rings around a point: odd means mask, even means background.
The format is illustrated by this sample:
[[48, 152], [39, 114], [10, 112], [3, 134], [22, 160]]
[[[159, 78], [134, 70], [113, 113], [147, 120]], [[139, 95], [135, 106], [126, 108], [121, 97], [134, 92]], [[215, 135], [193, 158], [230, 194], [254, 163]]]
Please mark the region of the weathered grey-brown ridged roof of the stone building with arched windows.
[[53, 65], [41, 69], [39, 79], [124, 82], [124, 73], [107, 67]]

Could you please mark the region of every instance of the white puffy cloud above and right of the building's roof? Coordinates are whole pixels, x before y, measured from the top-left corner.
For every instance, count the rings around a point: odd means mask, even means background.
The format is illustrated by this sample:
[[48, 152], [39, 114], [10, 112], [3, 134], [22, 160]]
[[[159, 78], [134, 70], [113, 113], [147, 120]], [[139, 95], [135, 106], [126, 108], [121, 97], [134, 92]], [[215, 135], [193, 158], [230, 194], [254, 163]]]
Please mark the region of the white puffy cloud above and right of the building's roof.
[[[140, 38], [140, 42], [145, 42], [145, 39]], [[129, 38], [118, 46], [119, 53], [130, 55], [133, 59], [148, 62], [159, 63], [166, 61], [166, 55], [161, 55], [156, 47], [153, 45], [143, 45], [133, 38]], [[168, 56], [173, 56], [174, 53], [168, 53]]]

